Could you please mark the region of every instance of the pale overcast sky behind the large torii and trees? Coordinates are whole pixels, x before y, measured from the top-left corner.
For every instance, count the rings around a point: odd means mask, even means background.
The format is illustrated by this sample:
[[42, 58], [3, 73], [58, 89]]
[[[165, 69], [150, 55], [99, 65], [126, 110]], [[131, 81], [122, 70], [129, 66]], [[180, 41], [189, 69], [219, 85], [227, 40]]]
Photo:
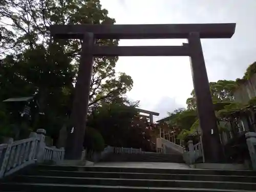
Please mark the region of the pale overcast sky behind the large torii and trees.
[[[231, 39], [203, 39], [209, 81], [241, 78], [256, 61], [256, 0], [101, 0], [116, 24], [237, 23]], [[182, 45], [185, 39], [120, 40], [120, 46]], [[193, 90], [188, 57], [119, 57], [116, 70], [131, 75], [131, 100], [160, 113], [185, 107]]]

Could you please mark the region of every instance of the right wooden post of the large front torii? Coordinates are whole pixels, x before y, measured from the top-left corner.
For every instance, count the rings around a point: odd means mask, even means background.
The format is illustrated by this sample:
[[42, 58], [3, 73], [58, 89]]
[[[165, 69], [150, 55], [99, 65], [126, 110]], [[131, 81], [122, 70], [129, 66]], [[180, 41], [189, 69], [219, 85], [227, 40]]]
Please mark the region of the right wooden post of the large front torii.
[[223, 157], [217, 119], [212, 103], [200, 34], [189, 33], [190, 66], [197, 101], [199, 123], [202, 130], [203, 147], [206, 162], [220, 162]]

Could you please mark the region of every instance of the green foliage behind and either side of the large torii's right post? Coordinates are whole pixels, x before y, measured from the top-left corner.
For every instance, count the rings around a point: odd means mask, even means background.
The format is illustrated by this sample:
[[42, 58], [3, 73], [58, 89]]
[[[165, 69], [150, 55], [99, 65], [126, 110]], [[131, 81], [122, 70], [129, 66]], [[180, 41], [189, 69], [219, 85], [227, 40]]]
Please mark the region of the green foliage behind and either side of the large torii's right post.
[[[246, 70], [242, 79], [232, 80], [218, 80], [217, 82], [210, 82], [210, 91], [212, 101], [216, 111], [216, 116], [221, 118], [233, 113], [234, 111], [244, 109], [248, 105], [255, 105], [256, 98], [252, 98], [248, 103], [238, 103], [234, 101], [234, 92], [246, 80], [256, 73], [256, 62], [252, 63]], [[172, 127], [181, 127], [181, 133], [178, 138], [184, 140], [188, 135], [196, 133], [199, 127], [199, 120], [196, 113], [196, 96], [195, 91], [191, 92], [190, 98], [186, 100], [187, 109], [177, 109], [172, 113], [168, 113], [168, 124]], [[224, 127], [219, 125], [219, 130], [223, 131]]]

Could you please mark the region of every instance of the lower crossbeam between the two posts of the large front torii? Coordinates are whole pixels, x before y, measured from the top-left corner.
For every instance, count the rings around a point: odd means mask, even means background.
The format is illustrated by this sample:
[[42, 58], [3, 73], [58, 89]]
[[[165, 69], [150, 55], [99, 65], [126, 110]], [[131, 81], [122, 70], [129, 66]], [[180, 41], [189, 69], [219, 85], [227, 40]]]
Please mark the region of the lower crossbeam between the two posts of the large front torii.
[[187, 46], [95, 46], [94, 56], [189, 56]]

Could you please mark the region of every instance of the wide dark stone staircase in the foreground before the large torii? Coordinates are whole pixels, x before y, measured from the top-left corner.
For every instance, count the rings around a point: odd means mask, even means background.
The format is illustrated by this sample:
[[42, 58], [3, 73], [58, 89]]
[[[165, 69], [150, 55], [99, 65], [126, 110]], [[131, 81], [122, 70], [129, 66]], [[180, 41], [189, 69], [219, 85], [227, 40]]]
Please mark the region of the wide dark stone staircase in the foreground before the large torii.
[[247, 170], [39, 165], [6, 177], [0, 191], [252, 192], [255, 181]]

